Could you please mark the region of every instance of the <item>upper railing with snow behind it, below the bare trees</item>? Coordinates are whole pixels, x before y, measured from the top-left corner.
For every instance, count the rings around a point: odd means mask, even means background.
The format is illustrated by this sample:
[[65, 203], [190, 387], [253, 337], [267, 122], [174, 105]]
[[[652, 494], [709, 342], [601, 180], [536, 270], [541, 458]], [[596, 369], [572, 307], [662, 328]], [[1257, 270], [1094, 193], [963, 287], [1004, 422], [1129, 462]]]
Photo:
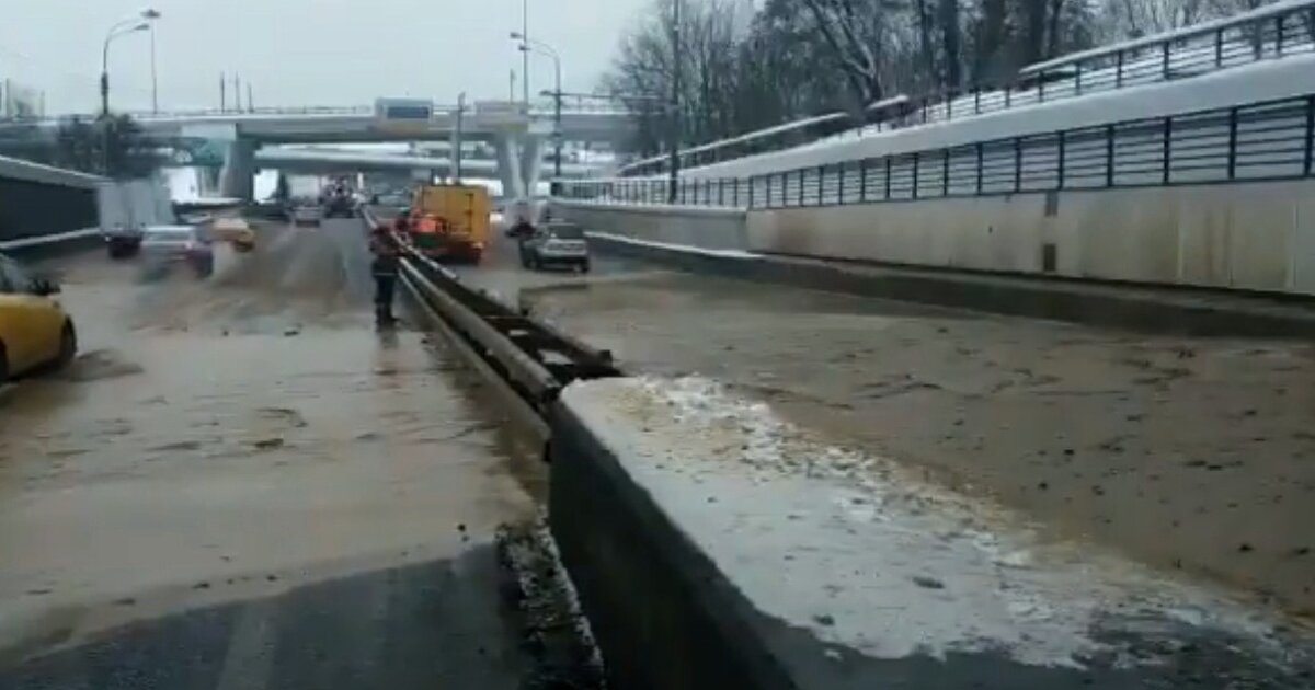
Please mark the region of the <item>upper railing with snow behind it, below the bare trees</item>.
[[[893, 127], [918, 126], [976, 117], [985, 113], [1074, 99], [1091, 93], [1173, 81], [1315, 51], [1315, 0], [1287, 0], [1227, 17], [1161, 33], [1136, 41], [1098, 47], [1024, 67], [1018, 78], [997, 85], [974, 84], [963, 89], [940, 89], [901, 103], [869, 109], [869, 122], [853, 126], [853, 117], [832, 113], [842, 126], [807, 127], [800, 133], [788, 126], [763, 141], [755, 133], [711, 142], [681, 152], [685, 167], [732, 160], [744, 155], [793, 149], [810, 142], [859, 138]], [[839, 130], [839, 131], [838, 131]], [[667, 170], [668, 156], [631, 163], [622, 175], [658, 175]]]

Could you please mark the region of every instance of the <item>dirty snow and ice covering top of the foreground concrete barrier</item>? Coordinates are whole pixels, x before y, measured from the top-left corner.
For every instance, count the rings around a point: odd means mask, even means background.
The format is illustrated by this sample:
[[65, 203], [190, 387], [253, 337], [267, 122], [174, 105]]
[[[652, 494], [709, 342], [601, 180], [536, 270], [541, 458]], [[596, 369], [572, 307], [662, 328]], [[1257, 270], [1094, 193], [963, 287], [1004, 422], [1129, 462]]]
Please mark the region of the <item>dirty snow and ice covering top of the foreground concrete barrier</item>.
[[1277, 612], [1055, 541], [717, 381], [589, 381], [562, 402], [760, 611], [825, 643], [1081, 669], [1170, 664], [1185, 640], [1206, 639], [1273, 669], [1310, 668], [1315, 636]]

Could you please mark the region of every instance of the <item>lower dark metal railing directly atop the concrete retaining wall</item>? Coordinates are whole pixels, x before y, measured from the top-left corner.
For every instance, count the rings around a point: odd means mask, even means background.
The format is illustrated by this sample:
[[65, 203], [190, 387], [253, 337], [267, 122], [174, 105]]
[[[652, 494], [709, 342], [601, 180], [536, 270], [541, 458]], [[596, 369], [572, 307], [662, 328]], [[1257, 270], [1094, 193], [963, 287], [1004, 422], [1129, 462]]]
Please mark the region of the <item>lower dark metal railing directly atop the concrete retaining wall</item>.
[[[750, 177], [684, 177], [680, 205], [780, 209], [1311, 176], [1315, 95], [864, 158]], [[559, 196], [667, 204], [669, 181], [559, 183]]]

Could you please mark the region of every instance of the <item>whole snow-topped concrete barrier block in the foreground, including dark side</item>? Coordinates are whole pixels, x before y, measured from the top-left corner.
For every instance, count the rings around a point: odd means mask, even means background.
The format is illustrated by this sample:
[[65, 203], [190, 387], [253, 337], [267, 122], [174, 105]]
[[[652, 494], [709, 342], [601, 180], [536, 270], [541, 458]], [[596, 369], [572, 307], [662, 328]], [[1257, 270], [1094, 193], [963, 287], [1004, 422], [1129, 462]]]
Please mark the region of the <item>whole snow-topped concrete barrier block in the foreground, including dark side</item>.
[[889, 463], [855, 469], [872, 460], [760, 406], [677, 393], [572, 384], [551, 417], [551, 530], [614, 687], [1295, 687], [1315, 670], [1310, 636], [1227, 595], [1094, 548], [1055, 559]]

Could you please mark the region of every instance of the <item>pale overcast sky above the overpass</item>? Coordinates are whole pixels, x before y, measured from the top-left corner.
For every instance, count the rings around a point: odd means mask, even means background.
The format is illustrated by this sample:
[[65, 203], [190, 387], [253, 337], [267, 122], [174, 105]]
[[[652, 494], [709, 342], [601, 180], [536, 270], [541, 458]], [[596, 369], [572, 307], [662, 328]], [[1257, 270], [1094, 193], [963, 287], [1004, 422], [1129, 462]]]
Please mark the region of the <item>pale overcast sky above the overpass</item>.
[[[0, 0], [0, 76], [43, 89], [47, 112], [91, 112], [105, 32], [153, 7], [162, 109], [218, 105], [221, 71], [250, 81], [256, 105], [505, 99], [521, 1]], [[530, 34], [562, 54], [565, 89], [589, 91], [650, 1], [529, 0]], [[149, 45], [145, 33], [114, 41], [113, 108], [150, 108]], [[551, 60], [533, 57], [530, 76], [551, 88]]]

